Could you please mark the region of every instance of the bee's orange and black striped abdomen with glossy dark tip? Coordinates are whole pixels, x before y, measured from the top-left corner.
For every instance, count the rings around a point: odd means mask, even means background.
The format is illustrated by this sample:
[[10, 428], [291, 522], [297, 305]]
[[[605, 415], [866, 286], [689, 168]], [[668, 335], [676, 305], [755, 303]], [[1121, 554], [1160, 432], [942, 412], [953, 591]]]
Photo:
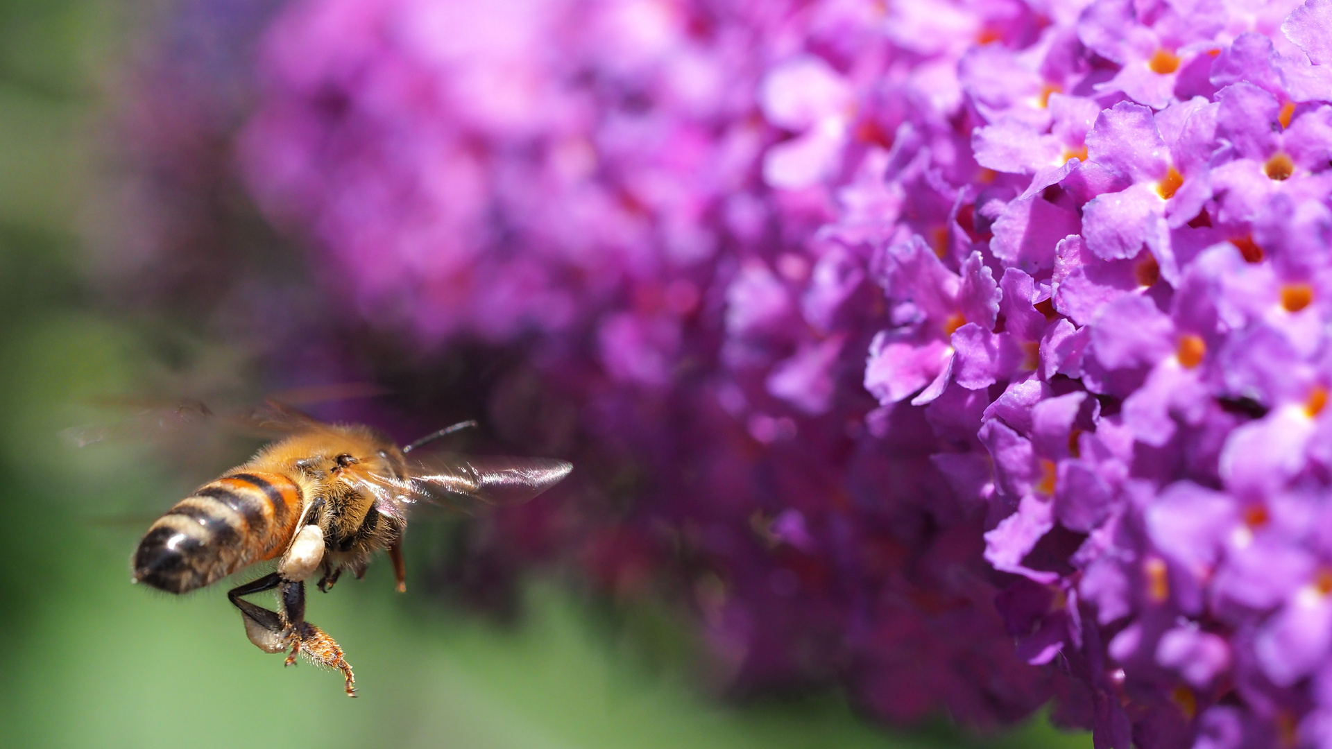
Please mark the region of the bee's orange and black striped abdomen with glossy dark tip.
[[301, 488], [278, 473], [237, 472], [176, 502], [135, 552], [135, 580], [185, 593], [282, 553]]

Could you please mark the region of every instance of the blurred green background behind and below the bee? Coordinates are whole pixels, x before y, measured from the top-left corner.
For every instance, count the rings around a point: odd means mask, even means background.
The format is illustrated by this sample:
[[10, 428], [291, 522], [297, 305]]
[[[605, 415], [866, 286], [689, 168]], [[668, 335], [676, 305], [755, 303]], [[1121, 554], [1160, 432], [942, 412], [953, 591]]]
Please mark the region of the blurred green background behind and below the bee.
[[[336, 674], [256, 650], [221, 588], [174, 598], [132, 586], [147, 521], [107, 518], [163, 509], [206, 476], [180, 476], [143, 446], [76, 450], [59, 433], [88, 417], [89, 396], [132, 392], [143, 369], [143, 320], [99, 308], [84, 248], [101, 231], [88, 219], [108, 189], [99, 164], [115, 155], [108, 81], [153, 12], [0, 0], [0, 744], [1091, 745], [1039, 720], [990, 738], [942, 721], [886, 732], [835, 696], [723, 705], [554, 580], [531, 581], [523, 616], [500, 625], [410, 588], [394, 594], [382, 564], [310, 605], [356, 666], [349, 701]], [[414, 540], [445, 537], [438, 522]], [[416, 544], [409, 581], [441, 544]], [[631, 616], [674, 626], [661, 612]]]

